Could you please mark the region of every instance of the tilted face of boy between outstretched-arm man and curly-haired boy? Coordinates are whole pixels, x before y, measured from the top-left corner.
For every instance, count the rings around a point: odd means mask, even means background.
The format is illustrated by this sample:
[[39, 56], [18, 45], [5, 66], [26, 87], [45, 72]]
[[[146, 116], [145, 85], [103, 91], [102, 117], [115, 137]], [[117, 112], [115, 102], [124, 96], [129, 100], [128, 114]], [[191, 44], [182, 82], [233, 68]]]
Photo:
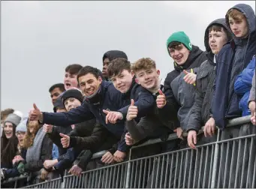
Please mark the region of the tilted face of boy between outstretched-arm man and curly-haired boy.
[[131, 88], [134, 73], [131, 71], [123, 70], [117, 76], [111, 77], [113, 85], [119, 92], [125, 93]]

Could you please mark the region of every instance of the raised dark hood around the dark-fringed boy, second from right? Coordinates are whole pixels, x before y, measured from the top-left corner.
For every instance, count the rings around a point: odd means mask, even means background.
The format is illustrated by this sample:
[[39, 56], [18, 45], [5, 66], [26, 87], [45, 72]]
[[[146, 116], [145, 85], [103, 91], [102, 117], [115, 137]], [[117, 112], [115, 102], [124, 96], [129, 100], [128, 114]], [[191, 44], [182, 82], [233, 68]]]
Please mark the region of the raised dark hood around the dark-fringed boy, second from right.
[[212, 23], [210, 23], [207, 28], [206, 28], [206, 31], [204, 33], [204, 46], [206, 47], [206, 52], [211, 52], [211, 48], [209, 47], [209, 27], [211, 27], [212, 25], [219, 25], [223, 28], [226, 28], [227, 29], [227, 32], [230, 32], [229, 34], [227, 34], [227, 40], [230, 41], [232, 39], [231, 37], [231, 31], [230, 31], [230, 27], [229, 25], [227, 26], [226, 22], [225, 22], [225, 19], [224, 18], [221, 18], [221, 19], [217, 19], [217, 20], [214, 20], [212, 21]]

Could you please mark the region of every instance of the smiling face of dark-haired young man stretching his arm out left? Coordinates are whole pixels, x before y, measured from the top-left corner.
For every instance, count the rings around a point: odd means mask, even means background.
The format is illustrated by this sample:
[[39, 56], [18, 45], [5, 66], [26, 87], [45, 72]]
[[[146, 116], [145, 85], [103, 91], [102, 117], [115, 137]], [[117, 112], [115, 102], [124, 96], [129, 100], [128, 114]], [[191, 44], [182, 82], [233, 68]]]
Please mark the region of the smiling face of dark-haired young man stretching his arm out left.
[[79, 77], [80, 89], [86, 97], [94, 95], [101, 86], [101, 77], [96, 78], [93, 74], [86, 74]]

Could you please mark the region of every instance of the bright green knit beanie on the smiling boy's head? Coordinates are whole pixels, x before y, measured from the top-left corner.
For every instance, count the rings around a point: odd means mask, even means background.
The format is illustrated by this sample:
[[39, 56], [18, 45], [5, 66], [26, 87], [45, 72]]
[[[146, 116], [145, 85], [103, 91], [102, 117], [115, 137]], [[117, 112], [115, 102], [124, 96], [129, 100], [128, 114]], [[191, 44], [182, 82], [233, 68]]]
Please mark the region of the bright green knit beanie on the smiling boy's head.
[[169, 44], [172, 43], [173, 41], [182, 43], [189, 50], [192, 49], [192, 43], [190, 42], [188, 35], [186, 35], [184, 31], [178, 31], [170, 35], [170, 37], [167, 39], [167, 42], [166, 42], [167, 49]]

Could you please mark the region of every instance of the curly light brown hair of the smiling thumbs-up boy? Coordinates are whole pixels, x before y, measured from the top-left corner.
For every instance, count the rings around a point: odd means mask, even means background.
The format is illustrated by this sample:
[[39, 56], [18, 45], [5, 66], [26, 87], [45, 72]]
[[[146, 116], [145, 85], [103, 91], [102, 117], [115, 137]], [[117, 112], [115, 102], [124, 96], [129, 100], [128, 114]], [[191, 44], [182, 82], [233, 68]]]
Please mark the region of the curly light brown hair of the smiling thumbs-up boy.
[[131, 70], [134, 71], [134, 73], [140, 70], [149, 70], [151, 68], [156, 68], [155, 61], [151, 58], [140, 58], [131, 66]]

